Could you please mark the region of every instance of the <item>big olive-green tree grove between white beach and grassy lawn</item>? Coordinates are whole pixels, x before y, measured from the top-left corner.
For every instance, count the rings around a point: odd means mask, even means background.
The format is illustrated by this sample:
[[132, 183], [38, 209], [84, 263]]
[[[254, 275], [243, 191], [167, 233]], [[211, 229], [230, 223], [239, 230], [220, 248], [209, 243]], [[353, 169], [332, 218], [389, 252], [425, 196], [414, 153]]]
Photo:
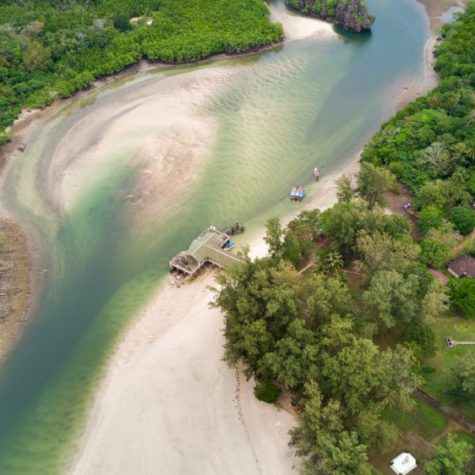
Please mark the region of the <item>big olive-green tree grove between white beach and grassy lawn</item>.
[[[446, 289], [420, 264], [407, 223], [360, 197], [342, 200], [286, 228], [270, 219], [269, 257], [220, 275], [214, 303], [225, 313], [228, 363], [244, 364], [262, 399], [273, 400], [276, 385], [301, 407], [292, 445], [305, 473], [371, 473], [369, 451], [398, 435], [382, 411], [411, 407], [417, 358], [433, 351], [429, 325], [447, 309]], [[300, 249], [292, 259], [290, 235]], [[299, 274], [310, 254], [314, 270]], [[360, 292], [343, 266], [361, 270]], [[380, 347], [378, 336], [393, 330], [393, 344]]]

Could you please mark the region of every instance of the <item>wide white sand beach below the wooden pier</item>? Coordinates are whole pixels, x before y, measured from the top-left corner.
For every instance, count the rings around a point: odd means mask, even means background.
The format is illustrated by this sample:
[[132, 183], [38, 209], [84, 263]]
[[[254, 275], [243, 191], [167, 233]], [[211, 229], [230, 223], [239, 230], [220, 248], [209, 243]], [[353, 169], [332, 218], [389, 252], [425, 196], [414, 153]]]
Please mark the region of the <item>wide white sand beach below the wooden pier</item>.
[[113, 358], [71, 473], [292, 473], [293, 418], [222, 361], [213, 283], [159, 289]]

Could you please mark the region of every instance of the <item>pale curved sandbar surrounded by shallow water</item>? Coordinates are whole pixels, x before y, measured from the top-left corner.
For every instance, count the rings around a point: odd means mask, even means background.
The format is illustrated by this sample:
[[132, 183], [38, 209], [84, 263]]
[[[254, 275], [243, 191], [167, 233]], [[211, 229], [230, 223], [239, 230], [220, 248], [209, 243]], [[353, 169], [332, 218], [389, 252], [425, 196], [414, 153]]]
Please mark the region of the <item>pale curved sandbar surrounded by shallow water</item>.
[[198, 111], [238, 71], [218, 67], [152, 78], [92, 108], [55, 150], [53, 201], [70, 209], [94, 179], [120, 164], [140, 170], [127, 195], [140, 205], [134, 214], [169, 211], [198, 175], [214, 135], [214, 124]]

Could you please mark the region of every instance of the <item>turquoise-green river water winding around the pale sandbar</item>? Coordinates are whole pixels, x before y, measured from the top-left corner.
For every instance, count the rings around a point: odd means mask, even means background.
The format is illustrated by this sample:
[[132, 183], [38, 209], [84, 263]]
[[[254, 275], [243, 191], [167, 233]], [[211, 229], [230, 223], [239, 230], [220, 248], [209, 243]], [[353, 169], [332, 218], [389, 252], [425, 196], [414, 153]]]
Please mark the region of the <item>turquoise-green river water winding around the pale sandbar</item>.
[[141, 74], [35, 127], [1, 191], [3, 205], [39, 236], [44, 272], [32, 323], [0, 373], [0, 474], [64, 472], [107, 358], [170, 257], [210, 223], [259, 226], [295, 209], [289, 187], [309, 182], [315, 164], [323, 174], [341, 167], [393, 112], [390, 91], [422, 76], [422, 8], [409, 0], [369, 4], [377, 16], [371, 34], [306, 38], [200, 66], [233, 72], [195, 111], [216, 124], [211, 149], [180, 206], [146, 225], [134, 226], [133, 205], [123, 199], [140, 173], [128, 160], [133, 150], [95, 173], [66, 212], [50, 193], [50, 160], [87, 114], [197, 68]]

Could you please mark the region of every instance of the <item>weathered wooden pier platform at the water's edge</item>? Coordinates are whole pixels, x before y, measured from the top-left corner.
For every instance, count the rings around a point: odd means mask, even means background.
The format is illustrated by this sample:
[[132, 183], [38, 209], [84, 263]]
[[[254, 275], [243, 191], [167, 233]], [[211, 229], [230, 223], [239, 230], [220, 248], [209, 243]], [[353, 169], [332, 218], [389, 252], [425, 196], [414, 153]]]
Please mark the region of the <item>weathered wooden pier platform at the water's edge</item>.
[[231, 235], [243, 231], [244, 226], [241, 223], [233, 224], [226, 232], [209, 226], [193, 240], [186, 251], [180, 252], [170, 261], [170, 271], [194, 276], [205, 264], [212, 264], [221, 269], [241, 264], [243, 259], [233, 254]]

